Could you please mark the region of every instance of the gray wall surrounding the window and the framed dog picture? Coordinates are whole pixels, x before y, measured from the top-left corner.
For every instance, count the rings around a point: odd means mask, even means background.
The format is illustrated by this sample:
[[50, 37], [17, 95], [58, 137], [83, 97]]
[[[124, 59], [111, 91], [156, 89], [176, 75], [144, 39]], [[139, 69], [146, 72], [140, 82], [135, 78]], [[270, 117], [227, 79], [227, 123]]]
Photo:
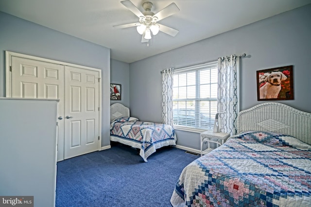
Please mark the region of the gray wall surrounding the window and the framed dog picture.
[[[240, 62], [241, 110], [263, 102], [257, 101], [257, 70], [294, 65], [294, 100], [279, 102], [311, 112], [310, 21], [311, 4], [130, 64], [132, 116], [161, 121], [160, 70], [243, 53], [247, 57]], [[178, 145], [200, 149], [199, 133], [176, 130], [176, 135]]]

